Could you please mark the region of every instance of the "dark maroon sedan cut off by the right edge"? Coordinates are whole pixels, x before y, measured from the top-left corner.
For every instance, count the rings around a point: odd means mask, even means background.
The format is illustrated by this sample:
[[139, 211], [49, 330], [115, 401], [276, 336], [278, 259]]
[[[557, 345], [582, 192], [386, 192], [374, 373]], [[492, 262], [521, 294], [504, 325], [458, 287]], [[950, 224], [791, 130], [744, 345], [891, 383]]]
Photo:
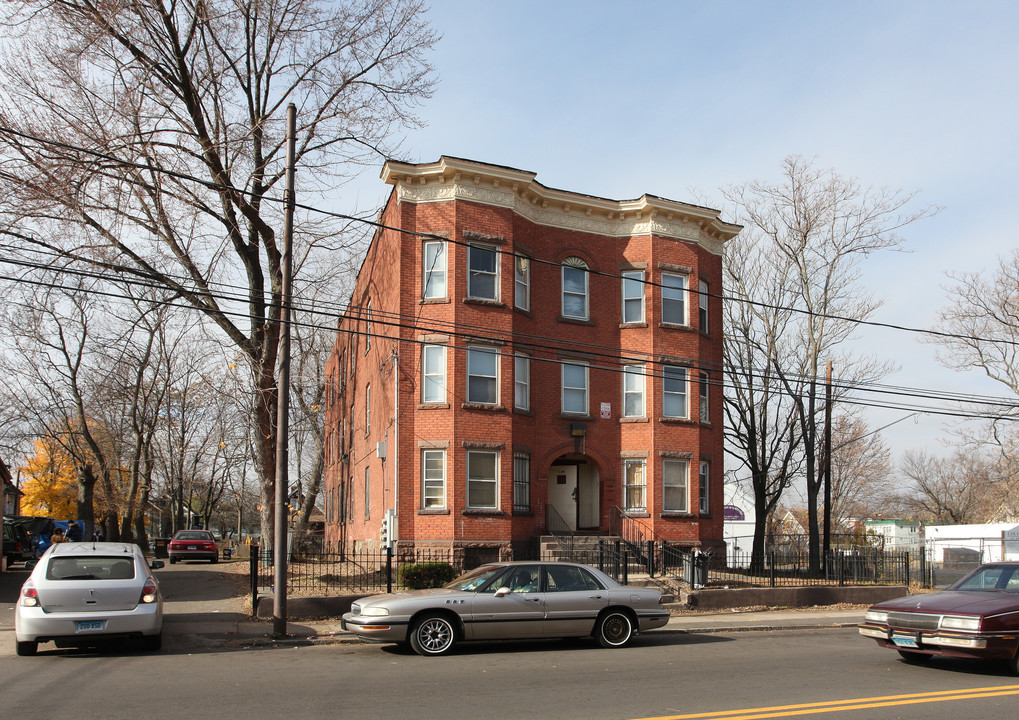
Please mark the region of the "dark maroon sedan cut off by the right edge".
[[1019, 674], [1019, 562], [981, 565], [942, 593], [873, 605], [860, 634], [906, 662], [999, 659]]

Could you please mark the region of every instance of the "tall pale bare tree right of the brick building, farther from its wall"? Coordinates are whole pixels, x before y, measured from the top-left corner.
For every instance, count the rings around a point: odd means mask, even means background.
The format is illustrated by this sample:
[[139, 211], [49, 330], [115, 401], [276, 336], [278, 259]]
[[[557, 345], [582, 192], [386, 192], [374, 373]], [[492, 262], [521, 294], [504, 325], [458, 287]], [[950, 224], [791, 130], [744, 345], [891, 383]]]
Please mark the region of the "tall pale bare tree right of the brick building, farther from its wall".
[[[795, 405], [810, 567], [816, 572], [820, 569], [818, 496], [823, 482], [818, 472], [822, 368], [826, 361], [835, 361], [839, 369], [836, 399], [854, 384], [875, 380], [888, 371], [842, 349], [858, 321], [867, 319], [879, 304], [863, 289], [860, 264], [874, 253], [898, 247], [902, 242], [899, 231], [931, 210], [909, 211], [913, 193], [864, 187], [798, 157], [785, 160], [781, 182], [748, 182], [728, 189], [726, 197], [757, 252], [775, 255], [771, 267], [788, 273], [781, 302], [795, 317], [783, 323], [780, 341], [771, 343], [771, 350], [781, 352], [771, 362]], [[742, 272], [730, 270], [731, 275]], [[754, 266], [747, 272], [754, 272]], [[758, 412], [759, 407], [747, 405], [739, 411]]]

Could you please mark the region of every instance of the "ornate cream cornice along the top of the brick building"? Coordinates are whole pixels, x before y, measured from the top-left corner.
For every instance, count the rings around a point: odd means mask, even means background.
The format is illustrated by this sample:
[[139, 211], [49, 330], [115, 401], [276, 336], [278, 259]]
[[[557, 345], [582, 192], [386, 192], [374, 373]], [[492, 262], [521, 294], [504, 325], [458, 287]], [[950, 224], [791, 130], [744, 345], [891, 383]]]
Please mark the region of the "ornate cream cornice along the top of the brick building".
[[389, 161], [383, 181], [400, 203], [466, 200], [508, 208], [535, 224], [610, 237], [661, 235], [696, 242], [721, 255], [722, 243], [742, 228], [722, 222], [718, 211], [655, 196], [606, 200], [545, 187], [535, 173], [443, 156], [435, 163]]

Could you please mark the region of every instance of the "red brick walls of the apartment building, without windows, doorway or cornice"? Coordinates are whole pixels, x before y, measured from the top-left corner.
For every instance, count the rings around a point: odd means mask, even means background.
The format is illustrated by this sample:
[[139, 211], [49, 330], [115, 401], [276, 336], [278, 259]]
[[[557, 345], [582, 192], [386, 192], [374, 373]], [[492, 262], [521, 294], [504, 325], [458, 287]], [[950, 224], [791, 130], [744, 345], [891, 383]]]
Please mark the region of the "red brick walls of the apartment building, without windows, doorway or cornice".
[[[526, 541], [541, 533], [542, 507], [547, 495], [549, 464], [579, 449], [597, 466], [600, 476], [600, 523], [608, 530], [613, 506], [623, 504], [624, 452], [646, 452], [648, 517], [645, 522], [657, 539], [691, 545], [715, 543], [722, 534], [722, 433], [721, 433], [721, 312], [720, 300], [709, 300], [709, 332], [697, 328], [698, 295], [690, 292], [691, 328], [661, 328], [660, 291], [645, 291], [644, 327], [621, 328], [621, 267], [642, 264], [645, 279], [660, 281], [659, 264], [690, 268], [689, 287], [698, 279], [709, 283], [710, 292], [721, 293], [721, 264], [717, 255], [693, 242], [671, 237], [616, 238], [536, 225], [505, 208], [463, 200], [441, 203], [397, 203], [395, 193], [382, 215], [385, 225], [448, 237], [447, 283], [449, 301], [423, 302], [422, 242], [424, 238], [394, 230], [380, 232], [363, 264], [353, 294], [351, 312], [338, 324], [336, 348], [327, 375], [339, 385], [339, 357], [353, 362], [344, 392], [328, 404], [326, 432], [338, 432], [339, 420], [350, 423], [347, 460], [327, 457], [326, 493], [353, 478], [354, 513], [343, 529], [335, 513], [327, 521], [328, 542], [377, 545], [381, 514], [398, 506], [401, 543], [504, 545]], [[533, 258], [531, 266], [531, 311], [513, 309], [514, 271], [509, 255], [500, 257], [500, 306], [465, 302], [467, 292], [467, 247], [465, 232], [501, 238], [500, 251], [520, 252]], [[559, 263], [576, 256], [585, 260], [589, 276], [590, 322], [560, 320], [560, 268], [540, 261]], [[605, 273], [598, 275], [597, 273]], [[356, 317], [359, 306], [371, 298], [376, 318], [374, 337], [365, 353], [365, 338], [346, 331], [363, 331]], [[393, 325], [383, 326], [382, 320]], [[445, 406], [421, 406], [421, 340], [447, 335]], [[470, 336], [470, 339], [465, 335]], [[399, 342], [396, 341], [398, 336]], [[489, 338], [499, 358], [499, 402], [494, 409], [464, 407], [467, 377], [465, 345]], [[660, 377], [648, 377], [645, 389], [647, 422], [621, 422], [623, 392], [618, 369], [620, 352], [646, 365], [660, 376], [661, 357], [683, 359], [692, 369], [689, 384], [689, 422], [658, 422], [661, 416]], [[531, 355], [531, 412], [516, 412], [514, 400], [515, 350]], [[393, 352], [397, 359], [394, 363]], [[575, 420], [560, 414], [560, 370], [564, 356], [585, 357], [590, 363], [589, 417]], [[698, 367], [712, 369], [710, 424], [701, 424], [697, 412]], [[393, 373], [398, 373], [398, 423], [394, 423]], [[372, 386], [372, 427], [364, 429], [364, 392]], [[611, 417], [601, 419], [601, 403], [611, 406]], [[585, 425], [581, 443], [570, 435], [570, 425]], [[398, 446], [395, 434], [398, 433]], [[389, 459], [375, 456], [376, 443], [388, 441]], [[466, 513], [466, 448], [471, 443], [500, 444], [499, 507], [497, 513]], [[421, 449], [444, 444], [446, 450], [447, 512], [423, 513], [421, 498]], [[531, 455], [531, 504], [533, 512], [513, 514], [514, 448]], [[395, 452], [394, 452], [395, 451]], [[684, 517], [661, 515], [661, 453], [687, 453], [690, 462], [691, 513]], [[698, 508], [698, 463], [710, 461], [710, 513], [702, 517]], [[392, 467], [398, 461], [398, 490]], [[364, 518], [364, 467], [371, 468], [372, 508]], [[347, 500], [347, 509], [351, 506]]]

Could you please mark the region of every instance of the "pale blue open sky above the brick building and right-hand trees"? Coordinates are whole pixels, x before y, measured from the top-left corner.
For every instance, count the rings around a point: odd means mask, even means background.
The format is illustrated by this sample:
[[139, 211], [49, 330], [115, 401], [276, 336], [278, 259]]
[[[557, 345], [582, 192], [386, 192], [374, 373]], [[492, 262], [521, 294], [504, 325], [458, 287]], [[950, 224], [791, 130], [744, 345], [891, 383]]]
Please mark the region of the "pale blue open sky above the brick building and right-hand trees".
[[[800, 155], [915, 191], [910, 207], [937, 214], [863, 269], [884, 300], [871, 319], [915, 328], [934, 327], [947, 271], [989, 272], [1016, 245], [1014, 1], [434, 0], [429, 15], [439, 85], [403, 160], [457, 156], [576, 192], [723, 209], [719, 188], [777, 182]], [[390, 188], [369, 172], [347, 189], [363, 209]], [[853, 342], [898, 368], [888, 384], [1007, 395], [918, 337], [861, 328]], [[950, 452], [957, 421], [907, 414], [865, 414], [895, 423], [882, 432], [894, 459]]]

